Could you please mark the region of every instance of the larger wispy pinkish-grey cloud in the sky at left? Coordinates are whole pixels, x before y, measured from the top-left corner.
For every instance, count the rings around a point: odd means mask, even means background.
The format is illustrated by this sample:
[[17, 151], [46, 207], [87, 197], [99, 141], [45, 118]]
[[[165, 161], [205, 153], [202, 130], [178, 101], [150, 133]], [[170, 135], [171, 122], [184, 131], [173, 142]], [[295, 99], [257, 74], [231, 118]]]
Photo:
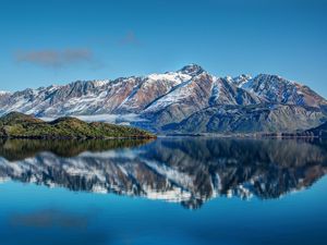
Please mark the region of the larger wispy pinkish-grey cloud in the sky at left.
[[94, 54], [90, 49], [45, 49], [32, 51], [17, 51], [15, 60], [22, 63], [31, 63], [48, 68], [62, 68], [78, 63], [94, 63]]

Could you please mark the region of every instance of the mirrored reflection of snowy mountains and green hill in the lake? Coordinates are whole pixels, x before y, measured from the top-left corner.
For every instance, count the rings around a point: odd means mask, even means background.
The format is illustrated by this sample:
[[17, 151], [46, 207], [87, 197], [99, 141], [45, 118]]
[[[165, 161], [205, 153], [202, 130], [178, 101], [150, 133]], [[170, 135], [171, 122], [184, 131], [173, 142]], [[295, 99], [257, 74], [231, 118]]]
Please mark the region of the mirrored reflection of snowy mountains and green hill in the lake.
[[0, 179], [198, 208], [218, 196], [278, 198], [327, 172], [322, 142], [158, 138], [1, 140]]

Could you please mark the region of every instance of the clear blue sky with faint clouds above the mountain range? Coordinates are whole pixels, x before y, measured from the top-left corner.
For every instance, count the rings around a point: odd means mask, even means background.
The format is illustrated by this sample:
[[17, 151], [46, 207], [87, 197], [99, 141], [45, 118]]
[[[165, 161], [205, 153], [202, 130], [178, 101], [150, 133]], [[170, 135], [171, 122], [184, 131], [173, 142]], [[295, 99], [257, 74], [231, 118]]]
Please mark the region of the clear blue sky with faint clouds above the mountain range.
[[173, 71], [279, 74], [327, 97], [327, 1], [0, 0], [0, 89]]

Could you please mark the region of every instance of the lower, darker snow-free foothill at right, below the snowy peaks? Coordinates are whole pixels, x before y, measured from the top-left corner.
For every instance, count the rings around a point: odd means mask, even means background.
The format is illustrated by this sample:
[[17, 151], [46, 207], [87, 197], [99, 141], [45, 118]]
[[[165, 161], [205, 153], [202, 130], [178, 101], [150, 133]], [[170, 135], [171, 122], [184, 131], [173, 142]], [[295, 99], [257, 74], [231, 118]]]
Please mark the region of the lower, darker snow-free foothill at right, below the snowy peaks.
[[316, 125], [323, 118], [317, 108], [294, 105], [218, 106], [165, 125], [164, 130], [180, 133], [293, 132]]

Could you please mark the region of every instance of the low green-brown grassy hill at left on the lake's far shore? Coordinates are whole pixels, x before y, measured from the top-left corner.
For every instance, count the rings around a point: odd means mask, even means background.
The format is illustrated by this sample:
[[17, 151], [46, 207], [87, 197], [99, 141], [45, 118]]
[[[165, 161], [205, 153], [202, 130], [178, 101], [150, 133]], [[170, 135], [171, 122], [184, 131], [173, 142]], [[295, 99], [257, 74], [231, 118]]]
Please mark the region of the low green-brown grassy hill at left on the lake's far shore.
[[155, 135], [130, 126], [87, 123], [75, 118], [45, 122], [32, 115], [10, 112], [0, 118], [0, 137], [10, 138], [152, 138]]

